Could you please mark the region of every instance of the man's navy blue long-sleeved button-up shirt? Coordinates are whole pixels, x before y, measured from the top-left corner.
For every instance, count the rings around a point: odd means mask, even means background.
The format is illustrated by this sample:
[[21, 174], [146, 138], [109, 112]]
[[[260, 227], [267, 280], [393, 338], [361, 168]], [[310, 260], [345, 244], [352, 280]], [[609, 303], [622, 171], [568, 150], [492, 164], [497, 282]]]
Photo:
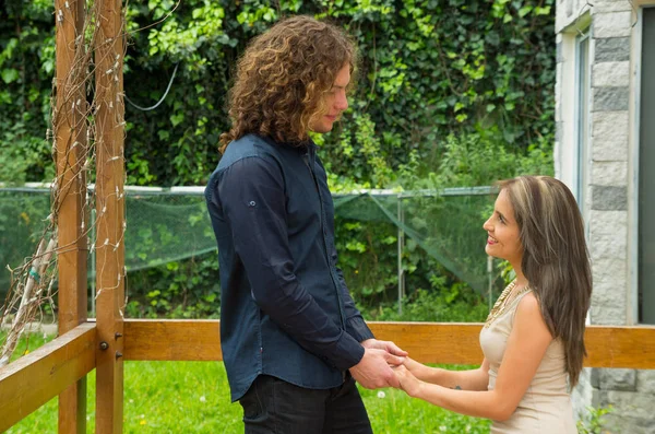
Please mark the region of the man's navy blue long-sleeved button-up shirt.
[[260, 374], [313, 389], [341, 385], [373, 335], [336, 267], [334, 207], [315, 145], [246, 136], [227, 146], [205, 198], [233, 401]]

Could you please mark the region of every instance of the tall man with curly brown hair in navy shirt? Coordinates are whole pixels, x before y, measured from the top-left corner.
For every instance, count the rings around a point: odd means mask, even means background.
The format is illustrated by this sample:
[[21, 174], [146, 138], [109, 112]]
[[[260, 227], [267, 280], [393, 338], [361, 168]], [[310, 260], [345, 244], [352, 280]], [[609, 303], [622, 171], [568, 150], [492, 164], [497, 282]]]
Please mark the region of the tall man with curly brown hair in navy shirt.
[[310, 131], [348, 107], [355, 49], [284, 20], [239, 60], [229, 132], [205, 197], [218, 242], [221, 340], [246, 433], [371, 433], [355, 380], [397, 387], [406, 352], [378, 341], [336, 267], [334, 209]]

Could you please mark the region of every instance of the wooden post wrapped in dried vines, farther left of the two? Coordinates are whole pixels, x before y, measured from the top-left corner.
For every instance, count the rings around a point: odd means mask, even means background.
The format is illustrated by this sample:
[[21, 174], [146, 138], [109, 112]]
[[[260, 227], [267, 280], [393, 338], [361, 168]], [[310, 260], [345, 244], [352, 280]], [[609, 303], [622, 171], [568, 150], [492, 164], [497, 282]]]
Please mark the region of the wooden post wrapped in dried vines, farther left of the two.
[[[55, 0], [57, 47], [56, 110], [52, 118], [57, 160], [53, 207], [58, 211], [59, 336], [86, 321], [86, 96], [82, 44], [83, 0]], [[82, 80], [82, 82], [80, 82]], [[86, 376], [59, 395], [59, 433], [86, 433]]]

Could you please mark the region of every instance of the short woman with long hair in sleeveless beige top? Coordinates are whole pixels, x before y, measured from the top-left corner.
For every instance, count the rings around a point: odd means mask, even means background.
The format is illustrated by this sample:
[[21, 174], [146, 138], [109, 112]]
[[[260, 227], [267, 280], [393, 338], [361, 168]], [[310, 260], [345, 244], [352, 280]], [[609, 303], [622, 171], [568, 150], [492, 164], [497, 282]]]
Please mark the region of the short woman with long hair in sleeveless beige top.
[[446, 371], [406, 359], [395, 368], [409, 396], [493, 420], [491, 433], [576, 433], [570, 389], [577, 384], [592, 274], [584, 223], [571, 191], [547, 176], [499, 183], [484, 228], [488, 255], [516, 279], [480, 332], [483, 364]]

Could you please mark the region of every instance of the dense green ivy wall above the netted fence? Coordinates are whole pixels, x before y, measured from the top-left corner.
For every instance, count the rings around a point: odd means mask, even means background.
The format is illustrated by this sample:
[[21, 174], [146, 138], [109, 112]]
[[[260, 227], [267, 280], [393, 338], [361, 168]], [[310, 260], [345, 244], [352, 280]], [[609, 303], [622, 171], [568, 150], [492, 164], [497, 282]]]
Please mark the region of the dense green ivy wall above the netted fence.
[[[281, 16], [298, 13], [346, 27], [360, 49], [352, 108], [335, 133], [320, 138], [333, 184], [389, 187], [403, 183], [402, 177], [405, 184], [426, 178], [444, 164], [451, 133], [457, 143], [472, 134], [469, 142], [477, 148], [523, 154], [537, 150], [548, 160], [553, 141], [552, 3], [129, 2], [128, 97], [152, 106], [176, 66], [178, 71], [156, 109], [127, 104], [128, 184], [202, 185], [218, 160], [217, 138], [227, 128], [225, 95], [235, 60], [252, 36]], [[0, 179], [48, 180], [52, 175], [45, 142], [55, 56], [52, 8], [50, 0], [11, 0], [0, 7]], [[11, 169], [3, 164], [9, 162]], [[485, 184], [505, 175], [502, 167], [496, 169], [501, 173], [465, 180], [451, 176], [446, 183]]]

